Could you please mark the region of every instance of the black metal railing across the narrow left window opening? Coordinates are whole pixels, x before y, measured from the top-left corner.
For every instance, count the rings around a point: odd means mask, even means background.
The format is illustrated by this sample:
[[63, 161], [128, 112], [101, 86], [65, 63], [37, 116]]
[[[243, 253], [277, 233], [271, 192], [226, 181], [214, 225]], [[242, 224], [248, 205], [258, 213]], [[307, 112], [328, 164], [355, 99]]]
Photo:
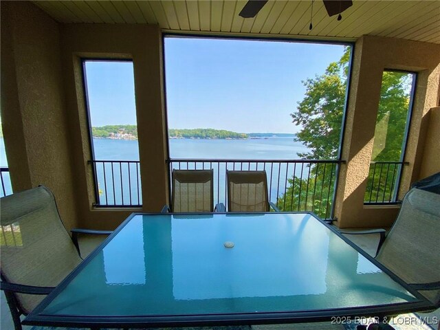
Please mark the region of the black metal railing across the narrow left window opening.
[[138, 160], [90, 160], [97, 207], [140, 207], [142, 189]]

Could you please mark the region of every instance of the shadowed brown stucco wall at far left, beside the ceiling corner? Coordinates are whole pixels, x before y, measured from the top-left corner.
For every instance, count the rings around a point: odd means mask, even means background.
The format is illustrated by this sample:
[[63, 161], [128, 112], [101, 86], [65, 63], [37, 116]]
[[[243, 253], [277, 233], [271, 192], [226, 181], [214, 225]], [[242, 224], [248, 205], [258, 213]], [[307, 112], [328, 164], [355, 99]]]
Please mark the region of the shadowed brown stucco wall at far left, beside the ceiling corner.
[[28, 2], [1, 2], [1, 118], [15, 192], [43, 184], [77, 226], [58, 24]]

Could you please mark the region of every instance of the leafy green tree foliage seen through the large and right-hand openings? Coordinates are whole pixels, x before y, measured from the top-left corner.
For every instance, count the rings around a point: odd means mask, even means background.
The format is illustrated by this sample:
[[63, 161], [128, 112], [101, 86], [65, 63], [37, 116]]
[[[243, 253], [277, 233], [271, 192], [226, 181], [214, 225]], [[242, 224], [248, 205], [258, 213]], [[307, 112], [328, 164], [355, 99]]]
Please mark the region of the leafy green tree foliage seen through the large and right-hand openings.
[[[305, 159], [338, 159], [342, 116], [349, 73], [351, 47], [346, 47], [340, 61], [330, 63], [322, 75], [303, 81], [305, 97], [291, 114], [292, 122], [303, 128], [295, 140], [309, 148], [299, 153]], [[382, 77], [381, 99], [377, 113], [373, 161], [397, 162], [401, 154], [406, 114], [410, 97], [412, 76], [399, 72], [384, 72]], [[325, 171], [327, 169], [327, 173]], [[389, 169], [389, 167], [388, 167]], [[393, 170], [393, 168], [391, 168]], [[336, 166], [311, 164], [303, 178], [294, 173], [289, 179], [285, 195], [278, 199], [282, 210], [311, 210], [321, 217], [329, 217], [329, 206], [333, 203], [333, 188], [336, 179]], [[370, 173], [369, 190], [380, 196], [391, 196], [393, 177], [375, 177]], [[322, 194], [321, 192], [327, 192]], [[313, 196], [311, 195], [313, 193]], [[322, 195], [324, 197], [322, 197]], [[387, 195], [387, 196], [388, 196]]]

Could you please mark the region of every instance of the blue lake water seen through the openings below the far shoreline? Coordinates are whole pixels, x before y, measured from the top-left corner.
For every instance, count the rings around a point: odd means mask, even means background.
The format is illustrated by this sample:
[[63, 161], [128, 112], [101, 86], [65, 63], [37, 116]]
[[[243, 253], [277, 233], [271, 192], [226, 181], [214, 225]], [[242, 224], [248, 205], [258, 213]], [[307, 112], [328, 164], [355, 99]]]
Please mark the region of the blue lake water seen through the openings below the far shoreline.
[[[170, 157], [172, 159], [298, 159], [298, 153], [307, 151], [303, 144], [294, 142], [293, 137], [269, 137], [267, 139], [245, 140], [205, 140], [205, 139], [170, 139]], [[137, 141], [94, 139], [96, 160], [139, 160]], [[3, 139], [0, 139], [0, 164], [8, 166]], [[214, 170], [214, 202], [225, 203], [226, 169], [263, 170], [267, 172], [271, 201], [286, 190], [286, 179], [294, 175], [307, 177], [307, 166], [293, 164], [270, 164], [265, 162], [210, 164], [210, 162], [182, 163], [182, 169], [212, 168]], [[173, 164], [173, 168], [179, 168]], [[100, 203], [115, 205], [142, 204], [140, 175], [136, 175], [137, 164], [97, 164]], [[10, 188], [8, 174], [3, 174], [6, 188]], [[44, 184], [42, 182], [41, 184]]]

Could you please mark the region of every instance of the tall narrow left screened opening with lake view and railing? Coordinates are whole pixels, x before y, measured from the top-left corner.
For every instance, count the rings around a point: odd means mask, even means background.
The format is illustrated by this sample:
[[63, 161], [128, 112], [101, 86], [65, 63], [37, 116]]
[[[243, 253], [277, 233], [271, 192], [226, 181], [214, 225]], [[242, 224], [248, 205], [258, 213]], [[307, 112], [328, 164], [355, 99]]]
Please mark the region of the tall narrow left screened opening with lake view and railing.
[[83, 61], [96, 206], [142, 206], [132, 61]]

